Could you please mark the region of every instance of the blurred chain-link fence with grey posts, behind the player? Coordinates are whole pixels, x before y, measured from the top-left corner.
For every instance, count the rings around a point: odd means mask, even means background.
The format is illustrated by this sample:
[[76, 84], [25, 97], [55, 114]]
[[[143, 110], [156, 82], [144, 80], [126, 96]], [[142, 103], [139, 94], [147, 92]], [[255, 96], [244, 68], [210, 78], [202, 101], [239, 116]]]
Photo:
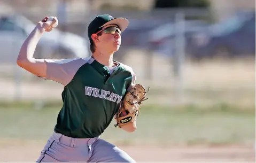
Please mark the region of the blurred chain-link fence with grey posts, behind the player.
[[[44, 34], [35, 57], [86, 57], [90, 55], [88, 23], [105, 13], [130, 20], [114, 59], [133, 67], [137, 82], [151, 87], [149, 96], [155, 99], [152, 103], [208, 104], [215, 99], [232, 103], [242, 95], [252, 95], [254, 62], [245, 58], [255, 54], [255, 12], [236, 11], [220, 22], [215, 15], [227, 15], [223, 10], [90, 11], [90, 7], [81, 6], [77, 10], [65, 5], [2, 10], [2, 100], [61, 99], [62, 86], [38, 79], [16, 64], [20, 46], [37, 21], [57, 15], [60, 23], [57, 29]], [[245, 104], [248, 98], [242, 101]]]

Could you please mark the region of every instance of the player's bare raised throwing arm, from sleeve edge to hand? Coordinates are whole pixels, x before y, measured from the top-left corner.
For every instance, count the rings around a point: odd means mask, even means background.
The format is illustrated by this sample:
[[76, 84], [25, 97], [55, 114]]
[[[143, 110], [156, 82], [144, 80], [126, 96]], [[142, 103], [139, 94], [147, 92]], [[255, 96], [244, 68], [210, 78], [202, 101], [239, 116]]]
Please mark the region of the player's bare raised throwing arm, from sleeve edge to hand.
[[50, 32], [52, 26], [46, 22], [48, 17], [39, 21], [20, 48], [17, 64], [28, 72], [37, 76], [46, 77], [46, 63], [44, 59], [33, 58], [36, 45], [44, 32]]

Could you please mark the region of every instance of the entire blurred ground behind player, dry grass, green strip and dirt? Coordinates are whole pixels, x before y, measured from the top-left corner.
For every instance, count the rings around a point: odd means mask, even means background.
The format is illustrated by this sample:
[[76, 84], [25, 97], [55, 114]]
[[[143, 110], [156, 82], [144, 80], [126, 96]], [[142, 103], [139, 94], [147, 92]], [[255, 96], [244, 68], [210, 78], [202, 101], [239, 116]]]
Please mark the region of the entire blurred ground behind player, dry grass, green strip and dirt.
[[[141, 57], [138, 59], [138, 57]], [[149, 86], [134, 133], [115, 128], [102, 138], [127, 151], [138, 162], [255, 162], [255, 61], [188, 63], [182, 101], [166, 58], [156, 56], [152, 80], [145, 77], [147, 55], [131, 53], [127, 63], [137, 83]], [[2, 70], [7, 75], [12, 75]], [[162, 69], [167, 69], [166, 74]], [[51, 136], [61, 107], [63, 87], [22, 73], [0, 72], [0, 159], [34, 161]], [[20, 90], [20, 94], [18, 91]], [[16, 97], [16, 98], [15, 98]], [[20, 102], [15, 102], [19, 97]], [[14, 157], [15, 156], [15, 157]]]

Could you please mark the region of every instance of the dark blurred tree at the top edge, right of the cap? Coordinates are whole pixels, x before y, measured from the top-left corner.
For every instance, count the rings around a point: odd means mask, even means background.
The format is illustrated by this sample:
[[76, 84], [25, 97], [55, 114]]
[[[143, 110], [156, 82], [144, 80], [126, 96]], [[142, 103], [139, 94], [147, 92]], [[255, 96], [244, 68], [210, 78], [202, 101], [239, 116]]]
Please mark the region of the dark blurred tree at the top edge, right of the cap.
[[155, 8], [210, 7], [208, 0], [155, 0]]

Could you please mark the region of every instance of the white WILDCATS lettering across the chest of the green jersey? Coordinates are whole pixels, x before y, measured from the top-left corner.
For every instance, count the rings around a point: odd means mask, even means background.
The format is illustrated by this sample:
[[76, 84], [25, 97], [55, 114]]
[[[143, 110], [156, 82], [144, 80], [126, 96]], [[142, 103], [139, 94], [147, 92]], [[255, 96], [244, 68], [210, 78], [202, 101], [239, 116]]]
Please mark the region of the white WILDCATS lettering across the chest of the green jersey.
[[119, 104], [122, 99], [122, 96], [119, 96], [118, 94], [114, 94], [113, 92], [110, 92], [104, 89], [98, 89], [98, 88], [87, 87], [87, 86], [85, 87], [85, 89], [86, 89], [87, 96], [105, 98], [117, 104]]

